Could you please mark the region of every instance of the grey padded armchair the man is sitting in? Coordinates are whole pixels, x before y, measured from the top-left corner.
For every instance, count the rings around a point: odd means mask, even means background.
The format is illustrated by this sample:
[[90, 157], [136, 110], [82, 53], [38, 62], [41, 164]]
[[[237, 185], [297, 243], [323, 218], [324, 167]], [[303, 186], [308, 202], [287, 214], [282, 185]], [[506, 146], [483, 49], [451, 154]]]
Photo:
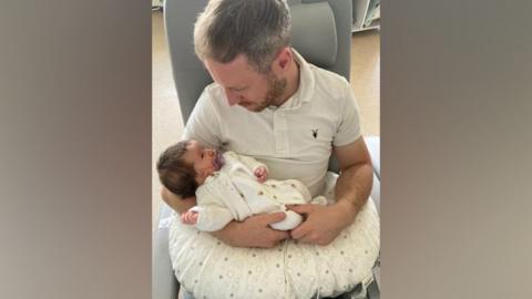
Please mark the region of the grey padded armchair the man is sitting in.
[[[172, 69], [184, 122], [194, 109], [203, 89], [212, 82], [203, 64], [194, 54], [193, 28], [196, 16], [207, 0], [166, 0], [164, 21]], [[351, 0], [288, 0], [293, 22], [293, 47], [318, 66], [336, 72], [347, 80], [350, 73]], [[371, 197], [380, 206], [379, 137], [366, 137], [374, 162], [375, 175]], [[334, 159], [331, 171], [338, 172]], [[379, 209], [380, 210], [380, 209]], [[160, 221], [167, 221], [171, 208], [163, 204]], [[175, 299], [178, 281], [172, 270], [168, 255], [168, 228], [161, 225], [153, 240], [152, 298]], [[379, 298], [376, 283], [369, 288], [369, 298]]]

